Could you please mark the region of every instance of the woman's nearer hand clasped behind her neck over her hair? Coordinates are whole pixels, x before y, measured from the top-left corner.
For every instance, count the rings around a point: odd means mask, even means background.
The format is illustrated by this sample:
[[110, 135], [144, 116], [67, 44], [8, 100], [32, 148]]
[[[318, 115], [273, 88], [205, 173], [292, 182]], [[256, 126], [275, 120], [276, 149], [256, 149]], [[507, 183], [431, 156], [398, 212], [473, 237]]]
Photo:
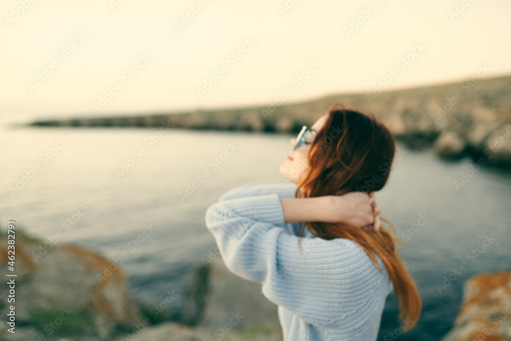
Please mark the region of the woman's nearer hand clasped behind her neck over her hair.
[[343, 222], [358, 226], [365, 231], [380, 230], [380, 206], [375, 193], [350, 192], [343, 195], [328, 195], [324, 207], [325, 222]]

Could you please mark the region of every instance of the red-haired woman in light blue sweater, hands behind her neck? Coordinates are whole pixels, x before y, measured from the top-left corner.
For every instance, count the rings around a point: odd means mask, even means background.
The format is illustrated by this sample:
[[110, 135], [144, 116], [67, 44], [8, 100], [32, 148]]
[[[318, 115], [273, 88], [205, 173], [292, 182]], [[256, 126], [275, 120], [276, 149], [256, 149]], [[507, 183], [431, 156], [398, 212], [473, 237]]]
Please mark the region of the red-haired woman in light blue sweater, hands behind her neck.
[[389, 176], [392, 134], [373, 115], [334, 103], [291, 144], [280, 172], [293, 184], [250, 183], [207, 209], [227, 268], [262, 284], [285, 341], [376, 340], [392, 290], [409, 330], [420, 295], [394, 247], [401, 240], [380, 226], [373, 193]]

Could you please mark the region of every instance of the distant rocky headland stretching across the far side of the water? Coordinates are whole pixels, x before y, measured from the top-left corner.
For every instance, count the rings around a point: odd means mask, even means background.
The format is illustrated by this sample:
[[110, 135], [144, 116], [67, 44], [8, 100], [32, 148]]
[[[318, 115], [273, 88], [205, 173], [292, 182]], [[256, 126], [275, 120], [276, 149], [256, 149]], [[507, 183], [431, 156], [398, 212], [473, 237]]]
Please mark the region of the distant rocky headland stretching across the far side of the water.
[[276, 96], [265, 106], [195, 110], [133, 117], [45, 120], [48, 127], [172, 127], [297, 133], [333, 102], [373, 113], [411, 149], [433, 147], [444, 160], [469, 156], [480, 166], [511, 169], [511, 76], [474, 76], [459, 83], [394, 92], [336, 95], [303, 103]]

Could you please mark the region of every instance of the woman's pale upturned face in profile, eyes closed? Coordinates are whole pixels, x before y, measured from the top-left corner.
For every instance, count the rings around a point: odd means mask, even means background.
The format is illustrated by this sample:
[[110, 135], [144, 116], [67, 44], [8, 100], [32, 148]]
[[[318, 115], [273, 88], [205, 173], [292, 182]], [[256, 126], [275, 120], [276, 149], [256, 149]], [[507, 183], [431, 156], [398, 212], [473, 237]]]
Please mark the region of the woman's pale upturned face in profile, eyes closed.
[[[310, 127], [313, 136], [315, 137], [317, 132], [323, 127], [324, 122], [327, 120], [328, 114], [321, 116], [313, 125]], [[296, 138], [291, 139], [291, 146], [294, 147]], [[307, 154], [309, 153], [310, 143], [303, 142], [296, 150], [291, 150], [289, 155], [286, 155], [284, 163], [281, 165], [280, 172], [290, 181], [298, 185], [301, 179], [307, 175], [309, 169], [309, 162], [307, 160]], [[292, 160], [291, 160], [292, 159]]]

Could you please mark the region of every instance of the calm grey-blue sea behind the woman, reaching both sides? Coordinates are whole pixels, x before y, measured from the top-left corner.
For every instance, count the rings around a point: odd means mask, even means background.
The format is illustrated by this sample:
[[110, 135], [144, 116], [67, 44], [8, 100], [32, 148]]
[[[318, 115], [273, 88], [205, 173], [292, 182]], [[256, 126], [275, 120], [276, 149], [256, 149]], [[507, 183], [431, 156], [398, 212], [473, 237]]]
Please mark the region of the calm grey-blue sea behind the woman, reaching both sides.
[[[291, 135], [265, 133], [10, 128], [5, 122], [0, 129], [1, 226], [15, 219], [43, 239], [76, 243], [109, 259], [126, 253], [121, 267], [129, 291], [153, 303], [169, 290], [183, 293], [191, 266], [215, 248], [204, 224], [207, 207], [249, 182], [286, 183], [278, 169], [291, 148]], [[453, 324], [464, 281], [511, 270], [511, 174], [471, 171], [468, 159], [447, 163], [431, 150], [398, 148], [403, 157], [377, 200], [381, 216], [407, 241], [400, 253], [424, 307], [413, 331], [394, 336], [400, 329], [392, 293], [379, 339], [437, 340]], [[204, 171], [210, 176], [181, 199]], [[462, 173], [468, 181], [456, 189]], [[22, 188], [11, 193], [18, 179]], [[456, 275], [461, 262], [468, 267]], [[444, 277], [453, 281], [439, 289]]]

